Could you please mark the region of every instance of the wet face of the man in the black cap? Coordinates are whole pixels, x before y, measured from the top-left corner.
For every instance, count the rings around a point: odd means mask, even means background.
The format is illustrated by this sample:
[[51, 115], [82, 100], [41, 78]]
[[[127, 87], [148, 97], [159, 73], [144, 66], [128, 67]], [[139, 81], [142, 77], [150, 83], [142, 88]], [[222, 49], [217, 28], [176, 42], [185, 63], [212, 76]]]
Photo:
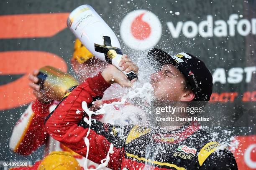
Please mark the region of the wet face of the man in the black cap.
[[[190, 101], [193, 95], [185, 90], [185, 77], [173, 65], [166, 64], [160, 71], [151, 75], [151, 85], [154, 88], [154, 96], [158, 100]], [[189, 97], [189, 98], [187, 98]]]

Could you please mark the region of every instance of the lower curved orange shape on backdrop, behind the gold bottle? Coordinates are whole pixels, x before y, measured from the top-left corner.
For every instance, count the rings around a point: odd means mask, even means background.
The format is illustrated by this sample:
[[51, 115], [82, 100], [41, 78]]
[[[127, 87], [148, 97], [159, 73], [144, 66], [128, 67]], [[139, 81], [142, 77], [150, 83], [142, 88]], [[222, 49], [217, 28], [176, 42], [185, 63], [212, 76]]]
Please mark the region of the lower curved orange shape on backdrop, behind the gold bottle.
[[0, 110], [11, 109], [35, 100], [29, 88], [28, 75], [35, 69], [51, 65], [67, 72], [66, 62], [59, 56], [42, 51], [8, 51], [0, 52], [1, 75], [24, 74], [18, 80], [0, 86]]

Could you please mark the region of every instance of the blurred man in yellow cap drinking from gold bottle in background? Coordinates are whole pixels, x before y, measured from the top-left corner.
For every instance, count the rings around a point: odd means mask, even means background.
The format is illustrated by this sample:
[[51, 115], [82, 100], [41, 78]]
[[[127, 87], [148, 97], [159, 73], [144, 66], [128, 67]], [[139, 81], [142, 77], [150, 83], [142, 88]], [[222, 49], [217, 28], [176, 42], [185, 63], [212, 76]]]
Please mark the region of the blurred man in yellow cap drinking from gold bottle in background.
[[[106, 66], [104, 62], [93, 57], [93, 55], [78, 39], [74, 43], [74, 55], [70, 62], [72, 63], [73, 70], [77, 73], [77, 76], [81, 81], [83, 81], [85, 77], [92, 77], [93, 75], [96, 75], [97, 72]], [[94, 70], [94, 72], [91, 70]], [[54, 110], [59, 101], [55, 98], [48, 97], [47, 94], [40, 89], [40, 86], [37, 85], [37, 74], [38, 70], [35, 70], [33, 75], [30, 75], [29, 77], [31, 80], [30, 86], [33, 88], [33, 93], [37, 99], [28, 106], [18, 122], [16, 122], [9, 142], [10, 149], [20, 155], [29, 155], [33, 151], [37, 150], [41, 145], [45, 144], [44, 156], [47, 156], [53, 151], [67, 151], [71, 153], [82, 166], [85, 158], [75, 153], [67, 146], [59, 143], [59, 141], [49, 137], [49, 134], [44, 128], [45, 117]], [[118, 100], [114, 95], [111, 95], [113, 94], [113, 91], [117, 91], [118, 87], [115, 87], [116, 86], [113, 85], [106, 91], [107, 93], [105, 98], [101, 102], [108, 103], [111, 101], [111, 98]], [[97, 116], [97, 118], [100, 119], [100, 115]], [[37, 168], [37, 164], [38, 163], [34, 165], [34, 169]], [[97, 165], [95, 163], [88, 160], [88, 168], [93, 169], [96, 166]], [[28, 167], [28, 169], [31, 168]]]

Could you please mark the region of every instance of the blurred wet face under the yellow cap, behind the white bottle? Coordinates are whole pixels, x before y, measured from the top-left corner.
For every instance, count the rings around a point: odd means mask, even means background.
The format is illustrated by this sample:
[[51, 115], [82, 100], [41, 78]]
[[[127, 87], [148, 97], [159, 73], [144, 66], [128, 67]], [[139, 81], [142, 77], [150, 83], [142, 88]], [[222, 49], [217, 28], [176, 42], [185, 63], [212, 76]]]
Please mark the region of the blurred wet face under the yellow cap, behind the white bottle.
[[73, 70], [78, 75], [79, 80], [83, 82], [88, 77], [93, 77], [98, 72], [104, 70], [108, 64], [106, 62], [103, 62], [102, 60], [97, 59], [96, 57], [92, 57], [81, 64], [76, 60], [72, 59], [71, 65]]

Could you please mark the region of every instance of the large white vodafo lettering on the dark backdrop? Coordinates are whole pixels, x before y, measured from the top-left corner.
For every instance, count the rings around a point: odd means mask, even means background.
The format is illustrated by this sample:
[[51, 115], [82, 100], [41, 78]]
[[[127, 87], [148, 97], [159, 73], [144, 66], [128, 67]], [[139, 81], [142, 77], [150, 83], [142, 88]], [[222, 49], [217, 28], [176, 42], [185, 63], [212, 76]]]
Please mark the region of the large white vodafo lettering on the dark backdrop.
[[213, 21], [212, 15], [207, 15], [206, 20], [202, 20], [200, 23], [194, 21], [179, 21], [176, 25], [172, 22], [167, 22], [169, 31], [174, 38], [178, 38], [182, 32], [185, 37], [193, 38], [199, 34], [202, 37], [233, 37], [236, 35], [236, 31], [239, 35], [246, 36], [250, 32], [256, 34], [256, 18], [241, 19], [242, 15], [231, 14], [226, 20]]

